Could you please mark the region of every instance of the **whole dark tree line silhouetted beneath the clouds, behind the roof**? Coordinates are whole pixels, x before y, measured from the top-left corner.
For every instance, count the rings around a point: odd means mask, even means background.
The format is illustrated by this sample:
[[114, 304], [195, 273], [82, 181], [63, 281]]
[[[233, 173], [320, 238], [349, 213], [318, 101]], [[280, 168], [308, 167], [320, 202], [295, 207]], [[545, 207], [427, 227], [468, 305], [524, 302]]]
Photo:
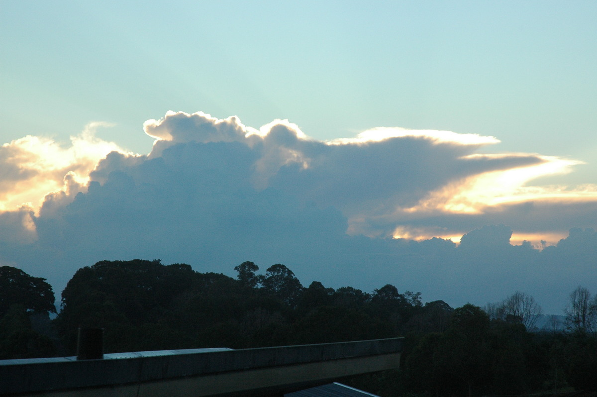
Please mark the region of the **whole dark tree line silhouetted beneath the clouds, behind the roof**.
[[[263, 274], [246, 261], [236, 278], [159, 260], [100, 261], [61, 294], [44, 278], [0, 267], [0, 359], [75, 355], [78, 327], [104, 328], [104, 352], [283, 346], [405, 337], [400, 370], [347, 380], [382, 396], [519, 395], [597, 390], [597, 298], [570, 295], [567, 332], [539, 331], [540, 306], [519, 291], [484, 308], [391, 284], [308, 287], [284, 264]], [[50, 320], [50, 314], [56, 318]]]

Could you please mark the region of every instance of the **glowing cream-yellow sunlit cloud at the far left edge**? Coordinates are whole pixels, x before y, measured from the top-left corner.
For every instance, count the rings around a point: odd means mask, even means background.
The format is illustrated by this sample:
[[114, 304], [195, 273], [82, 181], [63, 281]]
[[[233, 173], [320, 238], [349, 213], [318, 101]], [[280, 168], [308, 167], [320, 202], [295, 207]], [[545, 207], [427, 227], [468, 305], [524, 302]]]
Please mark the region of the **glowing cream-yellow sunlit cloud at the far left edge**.
[[26, 136], [0, 147], [3, 168], [0, 180], [0, 210], [16, 210], [23, 204], [38, 210], [50, 192], [68, 189], [67, 184], [81, 186], [97, 162], [112, 151], [124, 152], [113, 142], [94, 136], [97, 127], [111, 127], [91, 122], [78, 136], [70, 137], [63, 147], [50, 138]]

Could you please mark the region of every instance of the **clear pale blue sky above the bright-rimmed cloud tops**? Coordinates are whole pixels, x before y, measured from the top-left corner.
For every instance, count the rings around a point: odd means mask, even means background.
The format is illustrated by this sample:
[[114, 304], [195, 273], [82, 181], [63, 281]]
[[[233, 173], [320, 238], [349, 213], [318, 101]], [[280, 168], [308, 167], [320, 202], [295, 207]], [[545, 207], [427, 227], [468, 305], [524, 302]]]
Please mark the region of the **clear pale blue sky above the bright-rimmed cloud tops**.
[[597, 2], [0, 2], [0, 143], [90, 121], [148, 153], [167, 110], [288, 118], [317, 139], [372, 127], [496, 136], [485, 150], [589, 163]]

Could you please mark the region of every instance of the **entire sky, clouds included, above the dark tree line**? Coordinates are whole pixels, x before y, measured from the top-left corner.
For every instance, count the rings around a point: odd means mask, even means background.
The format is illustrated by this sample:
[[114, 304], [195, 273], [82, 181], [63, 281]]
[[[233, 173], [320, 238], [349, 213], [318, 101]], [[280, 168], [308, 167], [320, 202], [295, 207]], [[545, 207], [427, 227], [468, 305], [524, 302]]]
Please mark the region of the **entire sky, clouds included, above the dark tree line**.
[[596, 16], [0, 2], [0, 264], [57, 296], [103, 259], [253, 260], [561, 313], [597, 284]]

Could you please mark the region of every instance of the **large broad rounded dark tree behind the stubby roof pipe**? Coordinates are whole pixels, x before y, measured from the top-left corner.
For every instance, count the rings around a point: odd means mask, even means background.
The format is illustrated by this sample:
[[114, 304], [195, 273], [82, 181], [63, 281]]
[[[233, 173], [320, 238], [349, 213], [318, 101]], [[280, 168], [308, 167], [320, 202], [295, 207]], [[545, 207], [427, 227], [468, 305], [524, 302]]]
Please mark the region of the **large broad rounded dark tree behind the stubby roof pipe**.
[[[73, 352], [76, 330], [103, 327], [106, 352], [191, 347], [192, 334], [179, 316], [181, 296], [201, 288], [197, 274], [187, 264], [164, 266], [159, 260], [100, 261], [82, 267], [62, 293], [57, 328], [67, 349]], [[146, 333], [152, 324], [158, 337]], [[178, 327], [178, 328], [177, 328]]]

